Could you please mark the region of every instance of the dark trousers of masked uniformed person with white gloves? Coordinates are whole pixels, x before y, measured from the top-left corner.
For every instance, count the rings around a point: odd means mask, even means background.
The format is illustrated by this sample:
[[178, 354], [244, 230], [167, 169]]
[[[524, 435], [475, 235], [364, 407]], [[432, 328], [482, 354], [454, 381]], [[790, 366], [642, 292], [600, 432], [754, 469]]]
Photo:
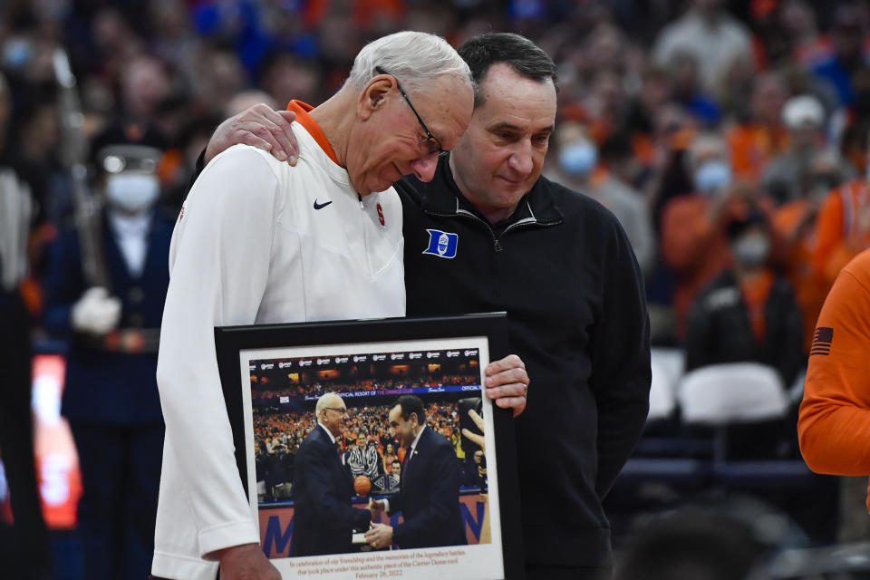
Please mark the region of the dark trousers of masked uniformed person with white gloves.
[[71, 420], [82, 469], [84, 577], [147, 578], [154, 554], [163, 425]]

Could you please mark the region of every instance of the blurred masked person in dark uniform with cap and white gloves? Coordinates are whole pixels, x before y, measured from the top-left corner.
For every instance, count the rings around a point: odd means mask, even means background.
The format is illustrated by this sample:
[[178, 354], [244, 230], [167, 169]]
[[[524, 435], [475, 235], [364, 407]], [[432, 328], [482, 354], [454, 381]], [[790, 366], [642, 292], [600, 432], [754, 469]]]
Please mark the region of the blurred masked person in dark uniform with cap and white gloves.
[[[154, 209], [159, 157], [128, 144], [99, 152], [106, 207], [87, 227], [61, 233], [45, 280], [45, 327], [70, 343], [62, 412], [82, 470], [87, 578], [144, 578], [154, 549], [163, 447], [157, 333], [172, 235]], [[85, 265], [97, 262], [103, 275], [87, 275]]]

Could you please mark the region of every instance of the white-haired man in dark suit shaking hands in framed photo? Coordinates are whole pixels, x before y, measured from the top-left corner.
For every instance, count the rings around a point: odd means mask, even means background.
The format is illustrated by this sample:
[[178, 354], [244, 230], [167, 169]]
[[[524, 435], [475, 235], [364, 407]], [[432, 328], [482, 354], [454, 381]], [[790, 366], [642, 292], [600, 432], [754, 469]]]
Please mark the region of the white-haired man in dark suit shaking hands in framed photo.
[[315, 412], [317, 426], [296, 454], [293, 556], [350, 552], [353, 530], [364, 531], [372, 521], [370, 510], [351, 507], [353, 481], [338, 458], [344, 401], [328, 392], [317, 400]]

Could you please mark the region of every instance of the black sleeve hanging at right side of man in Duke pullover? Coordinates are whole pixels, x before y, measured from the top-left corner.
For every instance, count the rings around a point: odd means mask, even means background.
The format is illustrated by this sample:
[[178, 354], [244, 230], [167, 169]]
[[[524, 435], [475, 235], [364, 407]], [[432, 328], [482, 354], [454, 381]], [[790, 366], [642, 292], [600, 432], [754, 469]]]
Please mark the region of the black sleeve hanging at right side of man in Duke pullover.
[[640, 267], [615, 218], [602, 241], [602, 313], [592, 335], [590, 384], [598, 410], [595, 491], [604, 498], [640, 440], [652, 374], [650, 318]]

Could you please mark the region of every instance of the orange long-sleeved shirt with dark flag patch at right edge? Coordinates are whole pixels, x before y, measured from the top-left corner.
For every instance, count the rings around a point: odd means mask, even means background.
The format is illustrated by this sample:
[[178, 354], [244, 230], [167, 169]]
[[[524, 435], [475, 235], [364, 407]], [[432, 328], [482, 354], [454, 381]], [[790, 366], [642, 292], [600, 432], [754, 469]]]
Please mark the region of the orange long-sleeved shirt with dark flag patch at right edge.
[[797, 434], [813, 471], [870, 475], [868, 353], [870, 250], [865, 250], [836, 277], [810, 349]]

